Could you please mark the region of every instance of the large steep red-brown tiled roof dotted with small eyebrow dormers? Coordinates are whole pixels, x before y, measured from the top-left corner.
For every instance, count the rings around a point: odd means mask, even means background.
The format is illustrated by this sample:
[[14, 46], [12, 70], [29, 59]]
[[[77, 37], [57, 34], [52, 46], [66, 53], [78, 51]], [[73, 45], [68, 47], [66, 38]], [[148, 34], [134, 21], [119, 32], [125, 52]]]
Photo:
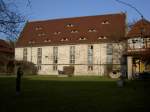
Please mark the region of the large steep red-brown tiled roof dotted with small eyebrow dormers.
[[16, 47], [95, 43], [125, 36], [124, 13], [28, 22]]

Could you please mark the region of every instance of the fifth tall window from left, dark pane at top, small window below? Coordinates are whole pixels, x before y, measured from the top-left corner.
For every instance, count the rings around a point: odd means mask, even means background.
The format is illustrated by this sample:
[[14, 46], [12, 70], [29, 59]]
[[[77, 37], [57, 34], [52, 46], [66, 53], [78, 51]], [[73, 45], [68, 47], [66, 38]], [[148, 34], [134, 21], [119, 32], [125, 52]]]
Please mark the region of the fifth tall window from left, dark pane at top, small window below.
[[93, 45], [88, 45], [88, 70], [93, 70]]

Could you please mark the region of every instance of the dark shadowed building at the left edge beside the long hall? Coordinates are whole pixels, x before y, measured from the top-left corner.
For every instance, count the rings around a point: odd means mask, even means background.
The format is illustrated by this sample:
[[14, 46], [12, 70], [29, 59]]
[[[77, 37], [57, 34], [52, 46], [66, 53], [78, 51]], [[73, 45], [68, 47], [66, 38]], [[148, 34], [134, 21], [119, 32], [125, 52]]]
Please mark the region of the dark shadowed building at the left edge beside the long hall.
[[0, 73], [13, 71], [14, 51], [10, 44], [0, 39]]

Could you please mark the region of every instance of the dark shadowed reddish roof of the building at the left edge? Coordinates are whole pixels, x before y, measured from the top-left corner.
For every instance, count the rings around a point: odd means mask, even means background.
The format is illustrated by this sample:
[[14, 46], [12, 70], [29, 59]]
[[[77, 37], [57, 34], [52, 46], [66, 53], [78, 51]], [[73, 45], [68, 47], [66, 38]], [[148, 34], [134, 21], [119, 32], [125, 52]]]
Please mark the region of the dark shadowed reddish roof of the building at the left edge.
[[6, 41], [0, 39], [0, 52], [13, 53], [13, 49], [10, 47], [10, 45]]

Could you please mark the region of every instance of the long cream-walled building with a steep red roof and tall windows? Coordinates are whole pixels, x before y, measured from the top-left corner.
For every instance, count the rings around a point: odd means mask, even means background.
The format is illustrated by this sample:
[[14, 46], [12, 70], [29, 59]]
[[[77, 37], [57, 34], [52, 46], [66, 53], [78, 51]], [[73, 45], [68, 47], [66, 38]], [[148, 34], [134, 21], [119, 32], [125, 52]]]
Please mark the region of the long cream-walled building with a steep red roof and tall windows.
[[120, 73], [126, 43], [124, 13], [28, 22], [15, 48], [16, 60], [33, 62], [39, 74], [58, 75], [74, 66], [74, 75]]

